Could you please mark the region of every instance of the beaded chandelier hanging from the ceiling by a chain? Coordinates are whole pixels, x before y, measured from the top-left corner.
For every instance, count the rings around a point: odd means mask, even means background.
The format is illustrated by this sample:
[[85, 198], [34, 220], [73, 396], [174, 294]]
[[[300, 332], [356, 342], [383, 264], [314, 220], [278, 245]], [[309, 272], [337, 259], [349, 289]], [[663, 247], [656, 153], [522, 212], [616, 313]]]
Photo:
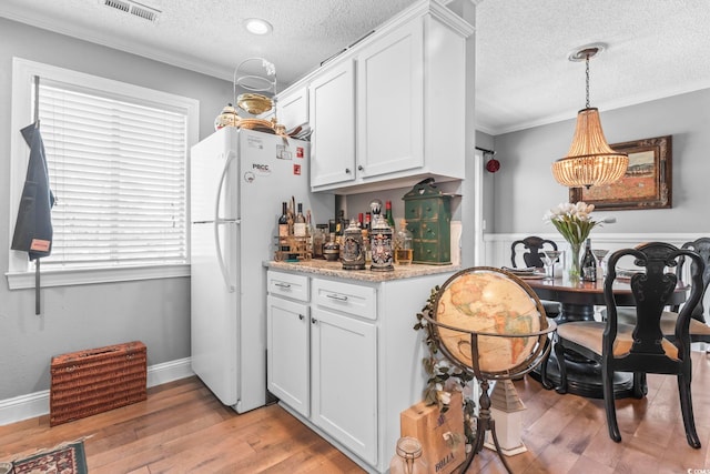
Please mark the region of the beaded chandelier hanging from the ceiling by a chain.
[[568, 188], [589, 189], [619, 180], [629, 165], [629, 155], [613, 151], [601, 130], [599, 110], [589, 107], [589, 58], [596, 56], [601, 46], [585, 47], [569, 56], [570, 61], [586, 62], [587, 103], [577, 114], [575, 137], [567, 157], [552, 163], [552, 175]]

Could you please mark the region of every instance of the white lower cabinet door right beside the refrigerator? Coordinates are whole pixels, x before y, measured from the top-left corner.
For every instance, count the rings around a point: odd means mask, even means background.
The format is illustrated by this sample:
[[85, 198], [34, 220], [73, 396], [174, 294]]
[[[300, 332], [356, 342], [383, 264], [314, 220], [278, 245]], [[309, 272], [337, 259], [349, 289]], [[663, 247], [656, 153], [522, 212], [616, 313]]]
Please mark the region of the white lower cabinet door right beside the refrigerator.
[[304, 416], [310, 415], [308, 306], [267, 297], [266, 383], [268, 391]]

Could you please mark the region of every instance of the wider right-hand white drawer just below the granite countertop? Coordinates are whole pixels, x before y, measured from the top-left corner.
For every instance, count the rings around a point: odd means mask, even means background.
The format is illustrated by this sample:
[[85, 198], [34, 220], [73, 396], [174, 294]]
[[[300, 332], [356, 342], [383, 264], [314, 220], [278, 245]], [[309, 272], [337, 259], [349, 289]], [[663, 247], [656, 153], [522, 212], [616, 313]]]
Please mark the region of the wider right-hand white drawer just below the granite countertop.
[[367, 320], [377, 319], [377, 293], [374, 288], [313, 279], [313, 303]]

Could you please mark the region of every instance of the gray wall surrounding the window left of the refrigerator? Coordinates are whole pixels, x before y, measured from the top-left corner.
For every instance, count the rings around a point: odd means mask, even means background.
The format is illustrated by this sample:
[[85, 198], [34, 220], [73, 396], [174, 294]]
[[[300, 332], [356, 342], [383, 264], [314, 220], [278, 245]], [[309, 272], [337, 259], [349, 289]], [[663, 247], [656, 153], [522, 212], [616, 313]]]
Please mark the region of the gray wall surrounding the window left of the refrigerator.
[[[200, 101], [200, 137], [231, 102], [232, 83], [0, 19], [0, 269], [8, 269], [12, 57], [130, 82]], [[140, 340], [149, 365], [190, 356], [190, 279], [61, 286], [0, 284], [0, 400], [50, 386], [52, 355]]]

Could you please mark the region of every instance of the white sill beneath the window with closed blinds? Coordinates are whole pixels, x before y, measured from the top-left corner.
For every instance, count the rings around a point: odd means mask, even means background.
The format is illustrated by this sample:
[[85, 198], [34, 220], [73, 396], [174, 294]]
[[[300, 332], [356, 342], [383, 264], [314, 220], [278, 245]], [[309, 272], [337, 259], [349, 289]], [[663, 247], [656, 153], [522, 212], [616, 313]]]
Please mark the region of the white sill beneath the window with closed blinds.
[[[6, 276], [8, 278], [10, 290], [34, 288], [34, 272], [8, 272]], [[190, 276], [189, 264], [131, 266], [123, 269], [51, 270], [41, 271], [41, 286], [72, 286], [183, 276]]]

